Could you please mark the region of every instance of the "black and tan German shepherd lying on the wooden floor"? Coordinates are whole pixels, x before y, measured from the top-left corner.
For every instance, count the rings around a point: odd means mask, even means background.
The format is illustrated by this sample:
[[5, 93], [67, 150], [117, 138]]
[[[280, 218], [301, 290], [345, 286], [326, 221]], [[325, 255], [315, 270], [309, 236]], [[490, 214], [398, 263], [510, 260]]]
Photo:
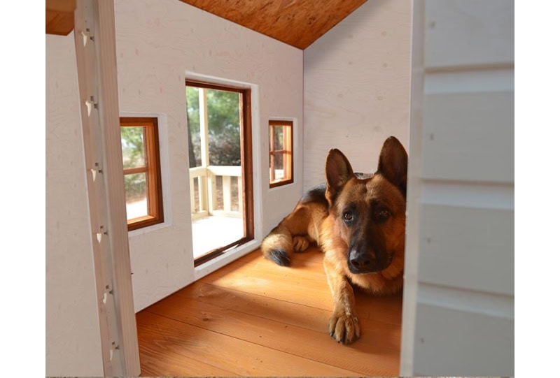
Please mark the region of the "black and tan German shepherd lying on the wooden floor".
[[385, 140], [373, 175], [353, 173], [344, 154], [330, 150], [326, 184], [307, 191], [262, 241], [265, 257], [280, 266], [289, 266], [290, 255], [309, 242], [321, 247], [335, 304], [328, 333], [339, 343], [360, 337], [351, 285], [378, 295], [402, 290], [407, 159], [393, 136]]

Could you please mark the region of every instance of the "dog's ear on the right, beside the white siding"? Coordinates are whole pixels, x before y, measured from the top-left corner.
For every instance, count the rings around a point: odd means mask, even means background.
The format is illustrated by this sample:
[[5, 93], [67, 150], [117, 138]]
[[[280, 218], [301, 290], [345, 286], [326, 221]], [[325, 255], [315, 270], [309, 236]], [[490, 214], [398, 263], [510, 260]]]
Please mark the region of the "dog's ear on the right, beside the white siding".
[[377, 173], [381, 173], [389, 182], [400, 189], [403, 196], [407, 196], [407, 168], [408, 154], [399, 140], [390, 136], [385, 140], [381, 153]]

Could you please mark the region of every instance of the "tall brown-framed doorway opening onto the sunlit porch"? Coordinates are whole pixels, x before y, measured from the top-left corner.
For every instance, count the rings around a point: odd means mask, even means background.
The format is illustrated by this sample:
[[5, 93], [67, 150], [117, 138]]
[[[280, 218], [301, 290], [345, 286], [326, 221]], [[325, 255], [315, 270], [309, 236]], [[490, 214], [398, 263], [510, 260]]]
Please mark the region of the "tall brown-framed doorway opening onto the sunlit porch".
[[253, 240], [251, 89], [186, 80], [193, 254]]

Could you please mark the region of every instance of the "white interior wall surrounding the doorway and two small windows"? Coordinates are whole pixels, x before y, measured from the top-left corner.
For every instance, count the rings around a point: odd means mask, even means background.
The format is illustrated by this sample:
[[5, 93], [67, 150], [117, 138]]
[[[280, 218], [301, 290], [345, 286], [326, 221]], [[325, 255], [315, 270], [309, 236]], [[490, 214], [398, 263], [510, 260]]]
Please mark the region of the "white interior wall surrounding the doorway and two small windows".
[[[169, 223], [130, 236], [134, 305], [141, 310], [208, 271], [193, 270], [186, 73], [253, 85], [253, 129], [260, 134], [253, 139], [254, 195], [262, 201], [255, 228], [266, 234], [289, 211], [285, 204], [302, 194], [303, 52], [177, 0], [116, 0], [115, 13], [120, 111], [167, 119], [161, 144]], [[296, 119], [295, 182], [274, 190], [268, 188], [271, 117]]]

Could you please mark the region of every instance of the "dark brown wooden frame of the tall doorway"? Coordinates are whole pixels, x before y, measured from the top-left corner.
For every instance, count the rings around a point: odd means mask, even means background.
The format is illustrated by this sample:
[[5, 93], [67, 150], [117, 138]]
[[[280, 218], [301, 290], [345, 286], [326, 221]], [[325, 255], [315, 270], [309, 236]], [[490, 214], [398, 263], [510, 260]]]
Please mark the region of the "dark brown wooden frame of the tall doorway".
[[239, 122], [241, 122], [241, 180], [243, 191], [243, 224], [244, 236], [228, 245], [216, 248], [195, 259], [195, 267], [221, 256], [229, 249], [243, 245], [255, 239], [255, 218], [253, 210], [253, 129], [251, 126], [251, 89], [220, 85], [211, 82], [200, 82], [197, 80], [185, 80], [188, 87], [218, 89], [220, 91], [237, 92], [241, 96], [241, 108], [239, 110]]

